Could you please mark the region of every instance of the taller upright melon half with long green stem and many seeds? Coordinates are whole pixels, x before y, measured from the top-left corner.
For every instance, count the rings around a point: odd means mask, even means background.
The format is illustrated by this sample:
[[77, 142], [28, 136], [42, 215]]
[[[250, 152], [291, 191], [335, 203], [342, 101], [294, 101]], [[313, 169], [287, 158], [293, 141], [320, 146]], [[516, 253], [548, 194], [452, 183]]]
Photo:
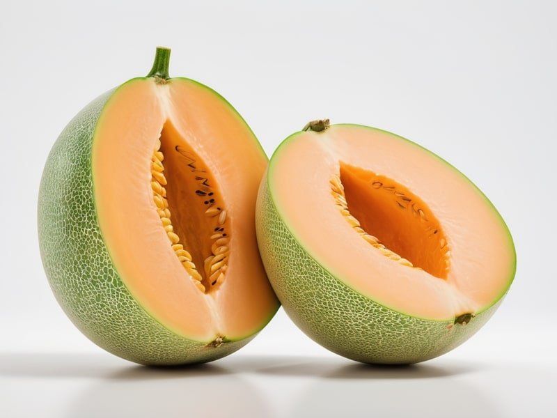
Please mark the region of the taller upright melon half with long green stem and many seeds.
[[61, 307], [89, 339], [140, 364], [218, 359], [278, 309], [254, 224], [267, 157], [212, 89], [147, 77], [93, 100], [48, 156], [40, 254]]

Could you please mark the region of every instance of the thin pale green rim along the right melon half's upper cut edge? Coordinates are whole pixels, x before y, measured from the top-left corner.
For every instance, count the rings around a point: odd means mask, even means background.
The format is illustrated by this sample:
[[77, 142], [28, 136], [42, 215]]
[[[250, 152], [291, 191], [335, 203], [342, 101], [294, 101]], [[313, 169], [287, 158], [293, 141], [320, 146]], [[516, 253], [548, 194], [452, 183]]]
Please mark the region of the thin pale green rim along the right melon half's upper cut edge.
[[[455, 171], [456, 173], [458, 173], [462, 177], [462, 180], [464, 180], [465, 183], [467, 183], [474, 190], [476, 190], [476, 192], [478, 194], [480, 194], [481, 198], [485, 201], [485, 203], [487, 203], [487, 205], [492, 208], [495, 219], [497, 219], [500, 222], [501, 229], [503, 230], [503, 233], [505, 233], [505, 235], [507, 235], [507, 237], [508, 237], [507, 242], [508, 242], [508, 245], [509, 245], [509, 251], [512, 252], [513, 263], [512, 263], [512, 266], [510, 268], [510, 275], [509, 275], [508, 281], [506, 282], [507, 283], [506, 286], [501, 288], [501, 292], [494, 298], [494, 300], [492, 300], [492, 302], [490, 302], [489, 304], [486, 304], [484, 307], [480, 307], [480, 309], [478, 309], [476, 314], [480, 314], [484, 311], [487, 311], [490, 307], [492, 307], [494, 304], [499, 302], [499, 300], [501, 300], [501, 298], [503, 298], [506, 295], [506, 293], [508, 292], [508, 290], [510, 288], [510, 285], [512, 284], [512, 281], [515, 278], [516, 250], [515, 250], [514, 242], [512, 240], [512, 235], [510, 234], [510, 231], [508, 229], [507, 224], [505, 224], [505, 221], [503, 220], [503, 217], [501, 217], [501, 214], [495, 208], [493, 203], [491, 201], [489, 201], [489, 199], [487, 199], [487, 196], [485, 196], [485, 194], [474, 183], [472, 183], [472, 181], [469, 178], [464, 176], [464, 174], [461, 171], [459, 171], [457, 168], [455, 168], [450, 163], [446, 162], [446, 160], [444, 160], [443, 158], [439, 157], [439, 155], [437, 155], [435, 153], [432, 153], [430, 150], [427, 150], [427, 148], [423, 148], [423, 146], [421, 146], [419, 144], [416, 144], [414, 141], [410, 141], [409, 139], [406, 139], [404, 137], [400, 137], [399, 135], [393, 134], [392, 132], [389, 132], [389, 131], [386, 131], [386, 130], [381, 130], [381, 129], [375, 128], [375, 127], [369, 127], [369, 126], [366, 126], [366, 125], [356, 125], [356, 124], [351, 124], [351, 123], [339, 123], [339, 124], [331, 125], [331, 127], [333, 127], [333, 126], [337, 126], [337, 127], [356, 127], [356, 128], [363, 129], [363, 130], [372, 130], [372, 131], [382, 132], [384, 134], [388, 134], [389, 136], [393, 137], [394, 139], [402, 140], [402, 141], [405, 141], [406, 143], [408, 143], [412, 146], [416, 146], [416, 147], [420, 148], [421, 150], [423, 150], [423, 152], [428, 153], [429, 155], [432, 155], [432, 157], [435, 157], [437, 160], [440, 160], [441, 162], [443, 162], [448, 169], [451, 169], [451, 170]], [[308, 132], [295, 132], [294, 134], [291, 134], [284, 141], [282, 141], [281, 144], [276, 148], [276, 150], [274, 151], [274, 153], [271, 157], [271, 160], [269, 161], [269, 168], [268, 168], [268, 173], [265, 177], [265, 182], [267, 182], [267, 187], [269, 187], [269, 192], [270, 192], [271, 195], [272, 195], [272, 190], [273, 190], [272, 189], [272, 178], [274, 176], [274, 168], [275, 168], [276, 162], [278, 160], [280, 160], [280, 158], [281, 158], [281, 151], [283, 149], [285, 149], [289, 144], [291, 144], [292, 141], [296, 141], [297, 137], [301, 134], [308, 134]], [[313, 134], [319, 135], [320, 132], [314, 132]], [[273, 201], [275, 202], [276, 200], [273, 199]], [[274, 203], [274, 205], [278, 209], [278, 211], [280, 212], [281, 211], [280, 205], [276, 205], [276, 203]], [[295, 231], [291, 231], [291, 233], [292, 233], [293, 236], [296, 237]], [[304, 251], [308, 252], [308, 254], [311, 254], [311, 251], [309, 251], [306, 247], [304, 247], [303, 240], [300, 240], [299, 237], [297, 237], [296, 240], [299, 243], [299, 245], [304, 248]], [[334, 268], [331, 268], [331, 266], [325, 265], [324, 267], [327, 270], [329, 270], [329, 272], [334, 270]], [[345, 285], [350, 286], [350, 283], [345, 283]], [[354, 290], [354, 289], [352, 289], [352, 290]], [[396, 310], [396, 309], [394, 309], [394, 307], [390, 307], [390, 308], [393, 309], [393, 310]], [[388, 309], [389, 309], [389, 307], [388, 307]], [[427, 319], [425, 319], [425, 320], [427, 320]]]

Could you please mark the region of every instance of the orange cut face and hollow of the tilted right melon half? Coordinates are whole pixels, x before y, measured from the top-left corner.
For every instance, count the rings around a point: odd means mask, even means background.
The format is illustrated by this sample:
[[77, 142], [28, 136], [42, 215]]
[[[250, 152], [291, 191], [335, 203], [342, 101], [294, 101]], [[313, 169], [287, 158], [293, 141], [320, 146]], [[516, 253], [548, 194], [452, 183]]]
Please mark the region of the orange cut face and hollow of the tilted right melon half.
[[[334, 176], [359, 228], [414, 267], [385, 256], [347, 222], [331, 196]], [[460, 173], [409, 141], [356, 125], [300, 133], [276, 151], [268, 182], [306, 251], [395, 311], [447, 320], [487, 309], [508, 287], [514, 250], [499, 215]]]

